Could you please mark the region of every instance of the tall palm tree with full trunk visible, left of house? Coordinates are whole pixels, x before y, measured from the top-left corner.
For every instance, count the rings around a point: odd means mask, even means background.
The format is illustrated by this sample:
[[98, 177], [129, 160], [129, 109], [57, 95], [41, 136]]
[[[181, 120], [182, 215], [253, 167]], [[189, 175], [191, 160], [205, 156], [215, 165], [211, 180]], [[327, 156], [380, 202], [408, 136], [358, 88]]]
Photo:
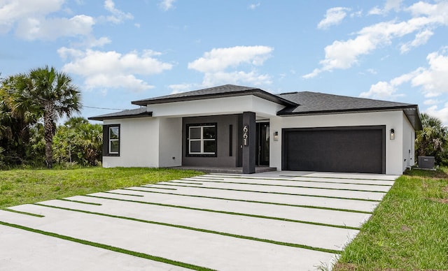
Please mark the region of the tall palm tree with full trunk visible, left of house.
[[13, 112], [18, 115], [33, 112], [43, 117], [45, 159], [48, 168], [52, 168], [52, 138], [57, 119], [80, 111], [80, 91], [69, 75], [48, 66], [17, 75], [14, 86]]

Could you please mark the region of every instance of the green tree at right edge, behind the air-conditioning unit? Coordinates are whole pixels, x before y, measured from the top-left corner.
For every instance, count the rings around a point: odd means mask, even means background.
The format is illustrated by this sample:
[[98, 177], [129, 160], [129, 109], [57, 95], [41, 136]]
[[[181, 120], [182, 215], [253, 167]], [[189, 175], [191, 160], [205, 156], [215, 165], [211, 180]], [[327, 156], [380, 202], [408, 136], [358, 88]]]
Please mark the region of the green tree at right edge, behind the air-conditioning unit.
[[447, 145], [447, 127], [437, 117], [432, 117], [426, 113], [420, 115], [423, 129], [416, 132], [417, 156], [434, 156], [435, 162], [442, 163], [444, 156], [444, 147]]

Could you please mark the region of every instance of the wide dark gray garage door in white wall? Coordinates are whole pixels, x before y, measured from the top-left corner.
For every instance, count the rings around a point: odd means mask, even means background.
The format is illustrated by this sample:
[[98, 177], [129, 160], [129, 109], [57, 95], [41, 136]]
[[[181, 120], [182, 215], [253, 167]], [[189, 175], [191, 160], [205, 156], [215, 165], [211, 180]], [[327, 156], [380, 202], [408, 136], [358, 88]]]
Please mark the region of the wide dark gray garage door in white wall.
[[386, 173], [385, 126], [283, 129], [282, 170]]

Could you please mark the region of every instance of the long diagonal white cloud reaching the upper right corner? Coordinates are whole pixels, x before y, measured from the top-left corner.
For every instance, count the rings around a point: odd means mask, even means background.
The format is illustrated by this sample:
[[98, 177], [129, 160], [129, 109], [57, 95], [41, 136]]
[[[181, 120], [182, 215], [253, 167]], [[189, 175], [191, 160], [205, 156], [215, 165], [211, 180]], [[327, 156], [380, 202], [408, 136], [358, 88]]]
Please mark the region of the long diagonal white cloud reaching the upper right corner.
[[335, 68], [351, 68], [353, 64], [358, 63], [359, 57], [364, 54], [370, 54], [378, 47], [390, 45], [394, 39], [416, 31], [421, 34], [417, 34], [414, 45], [409, 44], [409, 46], [418, 46], [426, 42], [425, 39], [429, 38], [431, 34], [426, 29], [448, 25], [448, 17], [446, 16], [448, 1], [437, 2], [433, 5], [426, 4], [422, 10], [417, 12], [418, 8], [415, 8], [415, 6], [418, 6], [419, 3], [414, 4], [407, 10], [412, 10], [414, 15], [422, 15], [420, 17], [412, 17], [405, 22], [396, 22], [395, 20], [379, 22], [358, 31], [356, 38], [347, 41], [334, 41], [331, 45], [326, 46], [324, 49], [325, 59], [319, 62], [321, 68], [316, 68], [311, 73], [303, 75], [303, 78], [313, 78], [323, 71], [332, 71]]

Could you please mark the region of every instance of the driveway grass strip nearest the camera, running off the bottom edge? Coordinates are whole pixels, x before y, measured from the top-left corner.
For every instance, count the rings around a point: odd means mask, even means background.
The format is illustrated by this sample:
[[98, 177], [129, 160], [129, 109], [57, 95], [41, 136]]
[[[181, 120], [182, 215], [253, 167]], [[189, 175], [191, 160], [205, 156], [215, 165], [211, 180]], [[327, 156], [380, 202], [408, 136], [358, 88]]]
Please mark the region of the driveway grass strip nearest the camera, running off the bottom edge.
[[99, 247], [100, 249], [107, 249], [107, 250], [111, 250], [111, 251], [116, 251], [116, 252], [119, 252], [119, 253], [128, 254], [128, 255], [131, 255], [131, 256], [136, 256], [136, 257], [139, 257], [139, 258], [146, 258], [146, 259], [152, 260], [152, 261], [168, 263], [170, 265], [177, 265], [177, 266], [181, 266], [183, 268], [188, 268], [188, 269], [191, 269], [191, 270], [201, 270], [201, 271], [208, 271], [208, 270], [210, 270], [210, 271], [213, 271], [213, 269], [204, 268], [204, 267], [198, 266], [198, 265], [192, 265], [190, 263], [183, 263], [183, 262], [180, 262], [180, 261], [174, 261], [174, 260], [170, 260], [168, 258], [162, 258], [162, 257], [159, 257], [159, 256], [153, 256], [153, 255], [149, 255], [149, 254], [144, 254], [144, 253], [141, 253], [141, 252], [138, 252], [138, 251], [132, 251], [132, 250], [129, 250], [129, 249], [122, 249], [120, 247], [109, 246], [107, 244], [100, 244], [100, 243], [97, 243], [97, 242], [91, 242], [91, 241], [87, 241], [87, 240], [82, 240], [82, 239], [78, 239], [78, 238], [75, 238], [75, 237], [70, 237], [70, 236], [67, 236], [67, 235], [60, 235], [60, 234], [57, 234], [57, 233], [51, 233], [51, 232], [48, 232], [48, 231], [45, 231], [45, 230], [38, 230], [36, 228], [29, 228], [29, 227], [21, 226], [21, 225], [18, 225], [18, 224], [10, 224], [10, 223], [4, 222], [4, 221], [0, 221], [0, 224], [4, 225], [4, 226], [10, 226], [10, 227], [13, 227], [13, 228], [20, 228], [21, 230], [28, 230], [28, 231], [31, 231], [33, 233], [40, 233], [42, 235], [48, 235], [48, 236], [51, 236], [51, 237], [57, 237], [59, 239], [64, 239], [64, 240], [68, 240], [68, 241], [71, 241], [71, 242], [77, 242], [77, 243], [80, 243], [80, 244], [87, 244], [87, 245], [92, 246], [92, 247]]

